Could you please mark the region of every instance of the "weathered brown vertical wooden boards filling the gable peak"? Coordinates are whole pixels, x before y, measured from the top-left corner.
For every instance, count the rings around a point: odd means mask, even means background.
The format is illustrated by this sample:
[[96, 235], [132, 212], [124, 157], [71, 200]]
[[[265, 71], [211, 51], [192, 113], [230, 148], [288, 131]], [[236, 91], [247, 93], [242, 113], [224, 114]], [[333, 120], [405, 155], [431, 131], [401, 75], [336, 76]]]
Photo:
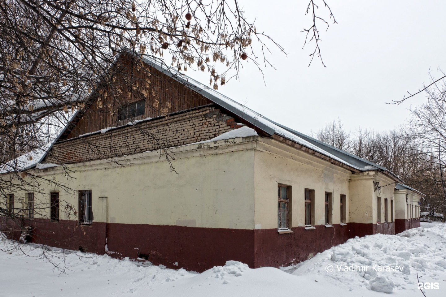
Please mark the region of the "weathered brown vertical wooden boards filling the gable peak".
[[[132, 72], [136, 73], [133, 90], [120, 87], [119, 91], [122, 95], [119, 94], [115, 98], [110, 96], [108, 99], [105, 99], [104, 94], [99, 94], [99, 97], [93, 100], [94, 103], [82, 112], [83, 115], [75, 119], [77, 123], [66, 132], [67, 136], [64, 139], [127, 124], [130, 122], [129, 119], [119, 121], [119, 107], [132, 102], [145, 101], [144, 116], [134, 118], [135, 120], [155, 118], [212, 103], [201, 94], [190, 90], [149, 65], [145, 65], [145, 69], [139, 71], [135, 68], [132, 67]], [[119, 99], [116, 100], [116, 98]]]

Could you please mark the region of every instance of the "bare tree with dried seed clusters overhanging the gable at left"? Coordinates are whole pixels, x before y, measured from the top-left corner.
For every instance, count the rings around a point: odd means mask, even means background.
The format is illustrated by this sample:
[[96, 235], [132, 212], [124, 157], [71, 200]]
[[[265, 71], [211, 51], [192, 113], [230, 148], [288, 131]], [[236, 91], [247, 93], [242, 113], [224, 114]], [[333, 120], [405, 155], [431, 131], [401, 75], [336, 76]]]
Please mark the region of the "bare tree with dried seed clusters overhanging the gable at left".
[[[326, 21], [315, 14], [317, 7], [312, 0], [306, 11], [313, 15], [313, 37], [306, 42], [315, 42], [314, 53], [320, 57], [316, 22]], [[16, 191], [32, 187], [39, 192], [56, 183], [25, 171], [26, 164], [47, 148], [76, 112], [116, 118], [132, 98], [150, 102], [155, 115], [169, 114], [178, 88], [148, 67], [143, 57], [166, 63], [167, 69], [207, 72], [216, 90], [237, 78], [248, 62], [260, 72], [260, 66], [270, 65], [270, 47], [284, 51], [245, 18], [237, 0], [1, 1], [0, 195], [8, 195], [12, 180]], [[169, 160], [158, 135], [141, 132]], [[64, 170], [70, 178], [70, 170]], [[65, 184], [58, 187], [73, 191]], [[24, 203], [0, 209], [0, 216], [17, 229], [14, 232], [26, 231], [33, 221]], [[48, 201], [34, 203], [45, 218]], [[64, 209], [76, 216], [73, 206], [66, 204]]]

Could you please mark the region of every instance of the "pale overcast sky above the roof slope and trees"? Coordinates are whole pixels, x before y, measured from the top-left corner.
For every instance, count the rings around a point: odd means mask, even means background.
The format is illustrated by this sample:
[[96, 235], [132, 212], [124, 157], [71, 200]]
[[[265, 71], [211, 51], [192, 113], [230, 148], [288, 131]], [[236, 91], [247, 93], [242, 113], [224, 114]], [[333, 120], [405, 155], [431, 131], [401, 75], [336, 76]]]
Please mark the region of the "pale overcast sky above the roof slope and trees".
[[[277, 70], [266, 67], [265, 82], [246, 63], [240, 81], [229, 81], [219, 92], [302, 133], [316, 132], [337, 118], [351, 131], [397, 127], [409, 117], [409, 106], [424, 102], [425, 95], [400, 106], [385, 103], [428, 83], [429, 68], [436, 77], [438, 67], [446, 71], [444, 0], [326, 0], [339, 23], [330, 21], [327, 32], [319, 24], [326, 68], [316, 58], [307, 67], [314, 49], [314, 44], [302, 49], [305, 35], [300, 31], [311, 26], [304, 16], [307, 0], [239, 2], [245, 16], [256, 17], [257, 31], [273, 37], [288, 56], [273, 50], [269, 60]], [[325, 8], [318, 11], [328, 19]]]

